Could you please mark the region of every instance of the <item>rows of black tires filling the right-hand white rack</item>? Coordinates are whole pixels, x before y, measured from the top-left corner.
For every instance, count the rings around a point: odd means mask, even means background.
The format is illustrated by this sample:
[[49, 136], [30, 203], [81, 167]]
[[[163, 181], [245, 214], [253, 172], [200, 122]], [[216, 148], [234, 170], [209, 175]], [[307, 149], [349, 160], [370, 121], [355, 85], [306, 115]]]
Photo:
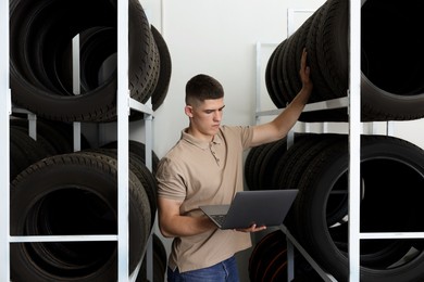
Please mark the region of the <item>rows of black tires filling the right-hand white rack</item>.
[[[274, 50], [265, 81], [277, 107], [284, 107], [301, 88], [298, 69], [303, 47], [308, 49], [314, 82], [311, 102], [347, 95], [348, 7], [349, 1], [327, 0]], [[416, 1], [363, 3], [362, 121], [424, 117], [424, 84], [420, 79], [423, 60], [420, 52], [411, 52], [419, 44], [416, 34], [423, 12], [424, 3]], [[308, 112], [300, 120], [347, 121], [348, 110]], [[360, 231], [422, 232], [423, 149], [396, 137], [362, 134], [360, 166]], [[250, 190], [299, 189], [285, 225], [325, 271], [337, 281], [348, 281], [348, 136], [298, 133], [288, 149], [284, 140], [253, 148], [246, 158], [245, 175]], [[271, 273], [252, 272], [277, 252], [272, 247], [275, 242], [262, 240], [255, 246], [262, 251], [253, 251], [250, 258], [249, 271], [255, 275], [251, 281], [287, 281], [264, 280]], [[286, 246], [276, 248], [283, 252]], [[282, 265], [287, 262], [279, 259]], [[303, 278], [304, 274], [308, 275], [303, 271]], [[314, 281], [315, 274], [311, 273], [311, 280], [305, 281]], [[423, 279], [421, 239], [361, 240], [361, 282]]]

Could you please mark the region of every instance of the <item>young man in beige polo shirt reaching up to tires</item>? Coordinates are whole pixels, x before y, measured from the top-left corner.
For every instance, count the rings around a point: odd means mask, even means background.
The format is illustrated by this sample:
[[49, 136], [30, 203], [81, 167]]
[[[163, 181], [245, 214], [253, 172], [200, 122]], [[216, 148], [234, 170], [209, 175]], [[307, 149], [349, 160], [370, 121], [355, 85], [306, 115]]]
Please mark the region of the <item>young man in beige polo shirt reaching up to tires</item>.
[[244, 190], [244, 151], [282, 139], [294, 127], [312, 91], [304, 50], [299, 74], [302, 89], [297, 97], [275, 119], [258, 126], [221, 125], [221, 84], [207, 75], [187, 82], [189, 126], [157, 171], [159, 227], [165, 238], [174, 238], [169, 281], [238, 282], [234, 255], [251, 246], [250, 232], [266, 227], [220, 230], [199, 206], [229, 204]]

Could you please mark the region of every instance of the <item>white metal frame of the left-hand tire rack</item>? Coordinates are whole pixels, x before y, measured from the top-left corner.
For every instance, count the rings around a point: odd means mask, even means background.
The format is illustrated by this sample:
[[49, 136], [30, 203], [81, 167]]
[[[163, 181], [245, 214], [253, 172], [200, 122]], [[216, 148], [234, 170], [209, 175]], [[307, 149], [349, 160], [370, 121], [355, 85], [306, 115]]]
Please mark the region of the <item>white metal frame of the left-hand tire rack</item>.
[[[128, 273], [128, 115], [130, 108], [145, 113], [146, 131], [146, 166], [152, 171], [152, 115], [150, 107], [129, 98], [128, 90], [128, 0], [117, 1], [117, 234], [116, 235], [59, 235], [59, 236], [11, 236], [10, 235], [10, 125], [12, 113], [11, 90], [9, 86], [9, 1], [0, 1], [1, 26], [3, 26], [0, 44], [0, 94], [4, 101], [0, 103], [0, 164], [1, 194], [0, 206], [0, 281], [10, 281], [10, 243], [24, 242], [87, 242], [117, 241], [117, 280], [135, 281]], [[33, 121], [33, 120], [32, 120]], [[79, 126], [74, 126], [74, 132]], [[150, 234], [145, 252], [147, 279], [152, 279], [152, 235]], [[140, 264], [142, 258], [140, 259]], [[139, 265], [140, 265], [139, 264]], [[137, 270], [135, 271], [137, 273]]]

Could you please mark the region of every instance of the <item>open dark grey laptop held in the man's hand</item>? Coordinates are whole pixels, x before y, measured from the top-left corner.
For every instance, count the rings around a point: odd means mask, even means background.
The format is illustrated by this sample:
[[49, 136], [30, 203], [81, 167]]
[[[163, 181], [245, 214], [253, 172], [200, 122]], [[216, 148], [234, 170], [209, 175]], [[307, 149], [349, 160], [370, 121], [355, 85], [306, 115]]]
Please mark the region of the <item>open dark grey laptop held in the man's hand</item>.
[[254, 190], [236, 193], [230, 205], [205, 205], [200, 209], [220, 229], [280, 226], [295, 202], [298, 189]]

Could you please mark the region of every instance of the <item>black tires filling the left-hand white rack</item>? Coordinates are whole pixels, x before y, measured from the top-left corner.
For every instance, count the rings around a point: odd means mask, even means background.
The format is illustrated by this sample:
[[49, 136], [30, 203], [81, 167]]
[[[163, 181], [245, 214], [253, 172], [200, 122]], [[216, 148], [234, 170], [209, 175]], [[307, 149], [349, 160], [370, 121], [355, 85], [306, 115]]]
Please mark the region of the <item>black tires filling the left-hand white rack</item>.
[[[163, 103], [171, 54], [138, 0], [128, 1], [128, 85], [153, 111]], [[73, 123], [114, 123], [117, 92], [116, 0], [11, 0], [10, 85], [14, 106], [37, 116], [36, 140], [22, 114], [11, 116], [11, 235], [117, 233], [117, 142], [74, 152]], [[73, 89], [73, 39], [79, 36], [80, 88]], [[74, 93], [75, 92], [75, 93]], [[144, 118], [130, 111], [129, 121]], [[145, 265], [157, 211], [145, 144], [129, 142], [129, 273]], [[153, 236], [154, 281], [166, 257]], [[10, 247], [11, 280], [116, 281], [117, 242], [28, 242]], [[137, 281], [147, 281], [139, 273]]]

